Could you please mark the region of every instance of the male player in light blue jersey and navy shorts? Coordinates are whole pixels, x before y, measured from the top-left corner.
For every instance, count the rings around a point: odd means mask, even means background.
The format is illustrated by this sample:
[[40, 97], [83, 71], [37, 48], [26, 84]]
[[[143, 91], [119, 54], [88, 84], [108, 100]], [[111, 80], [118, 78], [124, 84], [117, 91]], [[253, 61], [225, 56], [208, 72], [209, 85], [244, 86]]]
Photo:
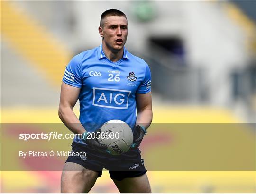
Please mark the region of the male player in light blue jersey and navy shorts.
[[[83, 134], [73, 139], [72, 149], [86, 152], [86, 157], [68, 157], [61, 192], [89, 192], [105, 168], [121, 193], [151, 193], [138, 149], [152, 121], [150, 70], [124, 47], [128, 21], [123, 12], [102, 13], [99, 34], [102, 45], [74, 56], [64, 72], [59, 117], [73, 133]], [[73, 112], [78, 99], [79, 119]], [[100, 133], [101, 125], [113, 119], [126, 122], [134, 134], [130, 150], [119, 156], [110, 155], [96, 137], [86, 138], [89, 132]]]

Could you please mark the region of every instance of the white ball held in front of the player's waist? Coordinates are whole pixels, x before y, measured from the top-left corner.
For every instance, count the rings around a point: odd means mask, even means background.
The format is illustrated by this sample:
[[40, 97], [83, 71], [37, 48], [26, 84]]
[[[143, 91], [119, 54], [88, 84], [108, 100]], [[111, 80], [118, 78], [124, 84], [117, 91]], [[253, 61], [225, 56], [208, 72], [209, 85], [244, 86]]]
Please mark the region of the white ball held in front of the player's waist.
[[107, 145], [111, 155], [127, 152], [133, 143], [131, 127], [121, 120], [110, 120], [101, 126], [99, 143]]

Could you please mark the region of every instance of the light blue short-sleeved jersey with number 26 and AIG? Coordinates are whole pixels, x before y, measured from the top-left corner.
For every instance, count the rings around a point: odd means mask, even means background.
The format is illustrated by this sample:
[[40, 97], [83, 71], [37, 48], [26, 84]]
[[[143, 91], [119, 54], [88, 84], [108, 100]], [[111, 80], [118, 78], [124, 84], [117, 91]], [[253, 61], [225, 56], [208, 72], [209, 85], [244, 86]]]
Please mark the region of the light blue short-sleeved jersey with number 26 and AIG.
[[112, 62], [102, 45], [74, 56], [65, 69], [63, 82], [81, 88], [79, 120], [88, 132], [113, 119], [134, 129], [136, 93], [151, 91], [150, 69], [143, 59], [124, 48], [123, 58]]

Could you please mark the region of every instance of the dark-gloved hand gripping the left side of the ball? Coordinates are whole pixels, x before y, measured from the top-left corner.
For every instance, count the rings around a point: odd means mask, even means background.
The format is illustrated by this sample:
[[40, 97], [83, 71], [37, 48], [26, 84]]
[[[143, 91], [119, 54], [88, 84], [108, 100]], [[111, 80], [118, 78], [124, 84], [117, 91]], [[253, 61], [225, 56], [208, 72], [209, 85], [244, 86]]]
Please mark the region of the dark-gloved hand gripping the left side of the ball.
[[[92, 149], [95, 149], [100, 152], [110, 153], [110, 151], [107, 149], [107, 145], [101, 144], [98, 141], [98, 134], [101, 134], [101, 129], [96, 130], [95, 135], [90, 135], [90, 138], [88, 137], [88, 132], [84, 132], [82, 141], [86, 143], [88, 146], [90, 146]], [[92, 138], [92, 136], [94, 138]]]

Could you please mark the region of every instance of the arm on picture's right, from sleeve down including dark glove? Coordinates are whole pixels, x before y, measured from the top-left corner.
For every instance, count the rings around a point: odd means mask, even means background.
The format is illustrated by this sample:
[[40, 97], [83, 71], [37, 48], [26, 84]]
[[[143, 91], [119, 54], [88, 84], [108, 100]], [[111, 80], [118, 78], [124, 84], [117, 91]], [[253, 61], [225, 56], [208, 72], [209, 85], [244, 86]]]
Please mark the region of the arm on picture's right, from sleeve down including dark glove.
[[132, 148], [138, 148], [144, 135], [146, 135], [146, 129], [152, 122], [152, 99], [151, 92], [145, 94], [136, 94], [137, 101], [137, 120], [136, 127], [133, 133]]

